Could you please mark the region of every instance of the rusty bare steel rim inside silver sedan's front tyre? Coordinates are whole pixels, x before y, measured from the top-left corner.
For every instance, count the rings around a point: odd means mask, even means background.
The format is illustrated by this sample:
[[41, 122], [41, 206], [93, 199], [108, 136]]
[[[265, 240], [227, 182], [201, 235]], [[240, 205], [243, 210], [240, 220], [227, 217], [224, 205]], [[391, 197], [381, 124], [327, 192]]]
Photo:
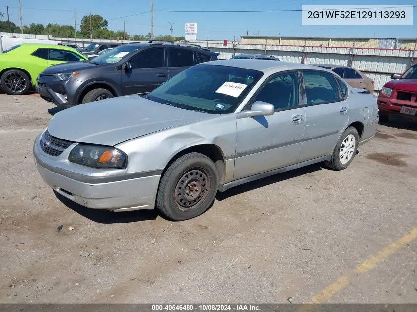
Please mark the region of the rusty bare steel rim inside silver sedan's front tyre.
[[211, 180], [202, 168], [193, 168], [184, 173], [175, 186], [175, 202], [182, 211], [189, 211], [200, 201], [204, 201]]

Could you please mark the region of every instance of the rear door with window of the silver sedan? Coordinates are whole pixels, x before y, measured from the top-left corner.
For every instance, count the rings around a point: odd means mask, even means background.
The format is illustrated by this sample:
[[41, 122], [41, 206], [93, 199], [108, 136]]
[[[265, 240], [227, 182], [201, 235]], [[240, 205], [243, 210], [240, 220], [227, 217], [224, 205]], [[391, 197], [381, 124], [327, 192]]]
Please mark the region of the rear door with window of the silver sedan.
[[303, 80], [306, 122], [300, 162], [330, 155], [349, 120], [349, 106], [333, 74], [303, 70]]

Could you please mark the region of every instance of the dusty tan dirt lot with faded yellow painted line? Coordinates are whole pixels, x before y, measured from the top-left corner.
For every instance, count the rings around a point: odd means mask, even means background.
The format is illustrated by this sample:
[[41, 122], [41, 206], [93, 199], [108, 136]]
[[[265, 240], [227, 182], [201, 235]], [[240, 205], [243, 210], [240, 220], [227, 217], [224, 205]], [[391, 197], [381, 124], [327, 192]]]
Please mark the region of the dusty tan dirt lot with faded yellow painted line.
[[55, 196], [32, 144], [57, 109], [0, 107], [0, 303], [417, 303], [417, 124], [379, 125], [344, 171], [265, 178], [171, 222]]

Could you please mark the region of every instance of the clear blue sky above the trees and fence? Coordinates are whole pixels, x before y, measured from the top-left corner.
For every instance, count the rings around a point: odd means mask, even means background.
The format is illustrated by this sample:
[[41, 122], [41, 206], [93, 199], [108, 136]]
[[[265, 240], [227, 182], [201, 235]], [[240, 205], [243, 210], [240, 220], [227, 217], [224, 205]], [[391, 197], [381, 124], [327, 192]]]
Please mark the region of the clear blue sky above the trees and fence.
[[[416, 5], [417, 0], [153, 0], [154, 35], [184, 36], [185, 23], [197, 23], [199, 40], [236, 40], [240, 36], [300, 36], [300, 37], [387, 37], [417, 38], [417, 7], [414, 7], [413, 26], [302, 26], [301, 12], [258, 13], [184, 13], [157, 12], [157, 10], [299, 10], [302, 4], [356, 4], [356, 5]], [[6, 18], [9, 6], [10, 20], [20, 25], [18, 0], [0, 0], [0, 12]], [[21, 0], [23, 24], [58, 23], [76, 28], [84, 15], [100, 14], [109, 22], [109, 29], [123, 30], [125, 21], [129, 35], [147, 34], [151, 29], [151, 0]], [[136, 16], [131, 14], [148, 12]], [[4, 19], [3, 18], [3, 19]]]

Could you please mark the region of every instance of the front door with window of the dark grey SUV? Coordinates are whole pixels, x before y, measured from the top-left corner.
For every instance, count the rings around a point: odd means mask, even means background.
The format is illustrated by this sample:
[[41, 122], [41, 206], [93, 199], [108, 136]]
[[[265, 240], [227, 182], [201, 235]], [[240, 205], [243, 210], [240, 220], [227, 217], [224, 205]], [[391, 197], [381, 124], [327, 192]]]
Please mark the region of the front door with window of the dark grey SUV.
[[152, 47], [130, 59], [132, 68], [122, 74], [124, 95], [151, 92], [168, 80], [164, 51], [163, 47]]

